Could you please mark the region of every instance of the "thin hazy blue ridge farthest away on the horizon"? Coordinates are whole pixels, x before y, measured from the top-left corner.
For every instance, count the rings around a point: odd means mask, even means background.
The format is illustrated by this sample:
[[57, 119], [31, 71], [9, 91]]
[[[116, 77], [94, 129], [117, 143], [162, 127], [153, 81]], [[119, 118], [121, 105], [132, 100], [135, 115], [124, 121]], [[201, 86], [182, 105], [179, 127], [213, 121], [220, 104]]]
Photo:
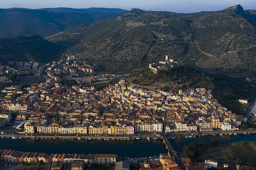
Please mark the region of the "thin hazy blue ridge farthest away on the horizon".
[[52, 12], [87, 12], [87, 13], [117, 13], [123, 14], [127, 12], [127, 10], [119, 9], [119, 8], [41, 8], [36, 10], [44, 10], [44, 11], [52, 11]]

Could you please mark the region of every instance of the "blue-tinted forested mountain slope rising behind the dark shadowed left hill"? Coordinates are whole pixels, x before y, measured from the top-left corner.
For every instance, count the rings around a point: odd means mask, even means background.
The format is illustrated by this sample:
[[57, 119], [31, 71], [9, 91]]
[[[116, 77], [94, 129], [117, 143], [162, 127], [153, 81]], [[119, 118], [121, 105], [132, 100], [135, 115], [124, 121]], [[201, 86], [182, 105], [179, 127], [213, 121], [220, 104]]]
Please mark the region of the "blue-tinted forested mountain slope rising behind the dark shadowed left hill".
[[49, 10], [61, 12], [45, 11], [44, 9], [0, 9], [0, 38], [27, 34], [47, 37], [71, 26], [105, 18], [116, 18], [122, 14], [121, 9], [81, 9], [82, 12], [77, 12], [79, 9], [71, 8]]

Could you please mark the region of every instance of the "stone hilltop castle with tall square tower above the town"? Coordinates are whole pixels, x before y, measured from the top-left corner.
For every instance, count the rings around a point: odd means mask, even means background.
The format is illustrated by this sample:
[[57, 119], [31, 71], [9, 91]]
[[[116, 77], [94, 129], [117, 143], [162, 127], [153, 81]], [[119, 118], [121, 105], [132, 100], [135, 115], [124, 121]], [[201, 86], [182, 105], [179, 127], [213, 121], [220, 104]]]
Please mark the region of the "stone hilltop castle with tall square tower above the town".
[[159, 61], [160, 64], [156, 66], [156, 63], [149, 64], [149, 68], [155, 73], [158, 73], [158, 70], [167, 70], [168, 68], [176, 68], [184, 66], [182, 63], [174, 62], [173, 59], [170, 59], [170, 55], [165, 55], [165, 61]]

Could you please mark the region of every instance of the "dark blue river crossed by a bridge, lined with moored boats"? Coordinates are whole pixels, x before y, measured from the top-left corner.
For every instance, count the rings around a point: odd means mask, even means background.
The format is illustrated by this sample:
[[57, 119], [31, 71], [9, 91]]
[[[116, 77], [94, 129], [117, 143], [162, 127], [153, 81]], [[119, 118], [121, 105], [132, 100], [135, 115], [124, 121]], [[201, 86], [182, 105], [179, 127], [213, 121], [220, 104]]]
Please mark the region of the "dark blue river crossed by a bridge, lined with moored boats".
[[[208, 144], [211, 141], [221, 139], [223, 143], [232, 143], [242, 140], [256, 141], [255, 134], [237, 134], [237, 135], [207, 135], [196, 136], [192, 138], [176, 138], [169, 139], [175, 152], [180, 152], [184, 145], [191, 142], [200, 142], [206, 140]], [[131, 139], [131, 140], [68, 140], [68, 139], [12, 139], [0, 138], [1, 149], [14, 149], [22, 152], [43, 152], [43, 153], [66, 153], [66, 154], [116, 154], [124, 157], [149, 157], [159, 155], [159, 153], [166, 153], [165, 145], [162, 139], [151, 140], [146, 139]]]

